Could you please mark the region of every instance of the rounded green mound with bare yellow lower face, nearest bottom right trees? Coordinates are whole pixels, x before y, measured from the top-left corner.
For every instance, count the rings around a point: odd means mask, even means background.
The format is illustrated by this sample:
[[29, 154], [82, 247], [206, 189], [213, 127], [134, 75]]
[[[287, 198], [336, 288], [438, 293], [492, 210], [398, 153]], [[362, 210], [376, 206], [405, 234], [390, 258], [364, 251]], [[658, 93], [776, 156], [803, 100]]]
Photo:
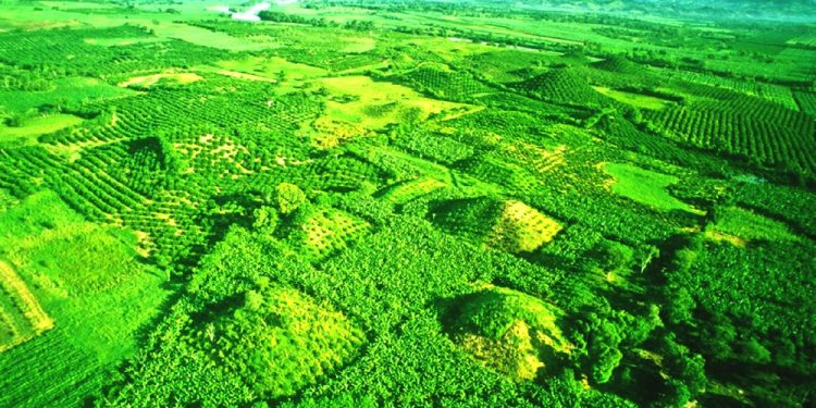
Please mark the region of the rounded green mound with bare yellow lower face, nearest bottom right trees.
[[489, 287], [458, 299], [449, 332], [478, 360], [515, 380], [533, 380], [569, 354], [558, 309], [520, 292]]

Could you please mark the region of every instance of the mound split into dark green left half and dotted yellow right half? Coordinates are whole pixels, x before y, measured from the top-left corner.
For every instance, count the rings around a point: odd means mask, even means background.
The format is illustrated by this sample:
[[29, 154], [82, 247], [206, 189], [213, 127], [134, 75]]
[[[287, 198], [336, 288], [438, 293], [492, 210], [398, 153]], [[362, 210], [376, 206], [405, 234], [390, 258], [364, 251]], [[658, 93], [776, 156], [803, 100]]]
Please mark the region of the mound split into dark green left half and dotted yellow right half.
[[510, 254], [532, 252], [561, 230], [558, 222], [521, 201], [489, 197], [442, 202], [431, 218], [443, 230]]

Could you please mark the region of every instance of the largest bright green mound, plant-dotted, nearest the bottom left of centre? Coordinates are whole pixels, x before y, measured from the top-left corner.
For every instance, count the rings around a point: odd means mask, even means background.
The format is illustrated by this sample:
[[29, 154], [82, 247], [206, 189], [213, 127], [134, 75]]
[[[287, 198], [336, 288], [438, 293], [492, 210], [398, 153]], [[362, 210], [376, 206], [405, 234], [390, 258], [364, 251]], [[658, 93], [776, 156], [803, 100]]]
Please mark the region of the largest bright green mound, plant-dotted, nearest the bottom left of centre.
[[297, 289], [262, 285], [200, 332], [200, 344], [268, 397], [294, 394], [356, 355], [363, 334]]

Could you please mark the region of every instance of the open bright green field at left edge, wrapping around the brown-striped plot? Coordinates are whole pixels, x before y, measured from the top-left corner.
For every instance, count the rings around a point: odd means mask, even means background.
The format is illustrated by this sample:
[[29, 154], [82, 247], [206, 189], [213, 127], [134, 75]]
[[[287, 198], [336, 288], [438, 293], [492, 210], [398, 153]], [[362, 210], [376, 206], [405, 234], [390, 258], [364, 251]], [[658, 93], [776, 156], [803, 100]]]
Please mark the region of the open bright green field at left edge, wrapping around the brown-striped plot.
[[136, 258], [132, 233], [84, 222], [52, 193], [0, 213], [0, 257], [54, 320], [0, 355], [10, 373], [0, 376], [0, 406], [78, 405], [135, 351], [136, 333], [170, 294], [164, 279]]

